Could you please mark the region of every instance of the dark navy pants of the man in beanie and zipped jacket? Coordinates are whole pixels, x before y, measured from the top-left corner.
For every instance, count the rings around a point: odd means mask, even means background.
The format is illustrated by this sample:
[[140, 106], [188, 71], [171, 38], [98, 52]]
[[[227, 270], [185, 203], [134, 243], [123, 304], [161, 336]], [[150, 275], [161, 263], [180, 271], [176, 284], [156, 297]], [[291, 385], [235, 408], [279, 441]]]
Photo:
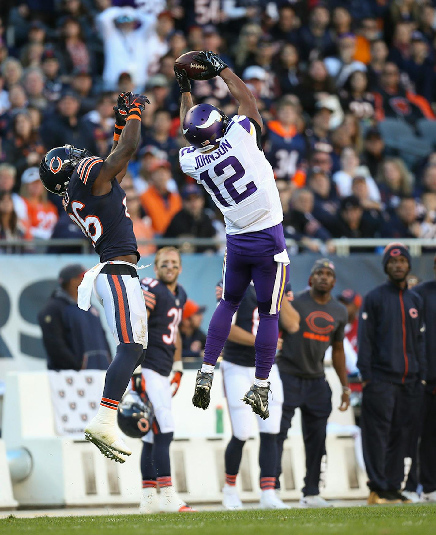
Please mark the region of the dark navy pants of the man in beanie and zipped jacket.
[[371, 491], [400, 490], [422, 389], [419, 381], [394, 385], [378, 379], [363, 388], [362, 447]]

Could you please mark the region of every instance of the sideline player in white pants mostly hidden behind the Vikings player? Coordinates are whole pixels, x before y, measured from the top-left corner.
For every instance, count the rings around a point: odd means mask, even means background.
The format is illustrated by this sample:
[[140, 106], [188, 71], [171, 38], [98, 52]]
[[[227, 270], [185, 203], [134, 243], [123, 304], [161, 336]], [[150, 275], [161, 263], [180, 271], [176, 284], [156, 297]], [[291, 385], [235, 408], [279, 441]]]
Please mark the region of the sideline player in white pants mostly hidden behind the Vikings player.
[[[223, 282], [217, 288], [218, 302], [223, 294]], [[280, 323], [290, 332], [300, 327], [300, 315], [290, 304], [292, 292], [282, 302]], [[251, 436], [250, 407], [242, 403], [240, 389], [253, 383], [255, 376], [255, 339], [259, 325], [256, 291], [253, 282], [249, 285], [238, 311], [234, 314], [230, 334], [223, 349], [223, 362], [220, 368], [223, 374], [224, 391], [227, 398], [228, 411], [232, 422], [232, 438], [225, 453], [226, 483], [223, 488], [223, 506], [226, 509], [241, 509], [242, 502], [236, 490], [236, 475], [242, 458], [242, 448]], [[278, 349], [281, 339], [278, 339]], [[269, 380], [274, 396], [269, 403], [270, 417], [262, 419], [256, 416], [260, 433], [259, 465], [261, 475], [259, 484], [261, 508], [287, 509], [274, 490], [276, 484], [277, 437], [280, 431], [281, 406], [283, 388], [277, 364], [271, 368]]]

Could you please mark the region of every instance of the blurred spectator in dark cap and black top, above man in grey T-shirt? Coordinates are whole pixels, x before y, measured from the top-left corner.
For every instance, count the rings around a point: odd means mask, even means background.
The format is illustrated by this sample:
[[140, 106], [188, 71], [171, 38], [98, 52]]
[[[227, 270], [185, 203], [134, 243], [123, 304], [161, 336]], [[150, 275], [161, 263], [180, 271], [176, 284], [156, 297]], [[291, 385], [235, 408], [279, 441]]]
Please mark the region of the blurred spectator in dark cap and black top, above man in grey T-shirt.
[[338, 215], [326, 223], [333, 238], [376, 238], [380, 223], [365, 211], [354, 195], [341, 201]]

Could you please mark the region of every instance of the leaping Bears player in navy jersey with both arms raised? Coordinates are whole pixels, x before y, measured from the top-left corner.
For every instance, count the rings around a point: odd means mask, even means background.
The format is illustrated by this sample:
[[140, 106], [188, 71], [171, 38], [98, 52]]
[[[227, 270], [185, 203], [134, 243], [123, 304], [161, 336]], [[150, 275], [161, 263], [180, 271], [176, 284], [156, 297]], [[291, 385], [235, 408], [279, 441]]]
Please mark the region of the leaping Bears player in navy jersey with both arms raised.
[[123, 463], [128, 449], [114, 427], [118, 403], [147, 347], [147, 312], [136, 263], [139, 253], [126, 195], [120, 186], [140, 139], [141, 113], [147, 97], [121, 93], [117, 106], [113, 146], [103, 161], [72, 145], [51, 149], [40, 166], [40, 178], [50, 192], [64, 197], [68, 216], [93, 243], [100, 263], [85, 273], [78, 305], [90, 307], [94, 288], [117, 342], [117, 354], [106, 372], [98, 414], [85, 429], [110, 459]]

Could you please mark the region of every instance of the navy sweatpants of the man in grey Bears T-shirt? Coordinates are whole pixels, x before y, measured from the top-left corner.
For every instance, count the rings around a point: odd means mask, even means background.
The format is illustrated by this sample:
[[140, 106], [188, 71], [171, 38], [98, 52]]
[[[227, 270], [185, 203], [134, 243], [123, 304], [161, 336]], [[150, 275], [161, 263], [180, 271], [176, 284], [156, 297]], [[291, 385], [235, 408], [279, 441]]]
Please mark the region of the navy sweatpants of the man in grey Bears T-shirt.
[[283, 383], [284, 402], [282, 407], [276, 482], [281, 474], [281, 455], [295, 409], [301, 410], [301, 427], [306, 454], [306, 476], [302, 492], [304, 496], [319, 494], [321, 461], [325, 455], [327, 418], [332, 412], [332, 391], [324, 377], [302, 379], [280, 372]]

